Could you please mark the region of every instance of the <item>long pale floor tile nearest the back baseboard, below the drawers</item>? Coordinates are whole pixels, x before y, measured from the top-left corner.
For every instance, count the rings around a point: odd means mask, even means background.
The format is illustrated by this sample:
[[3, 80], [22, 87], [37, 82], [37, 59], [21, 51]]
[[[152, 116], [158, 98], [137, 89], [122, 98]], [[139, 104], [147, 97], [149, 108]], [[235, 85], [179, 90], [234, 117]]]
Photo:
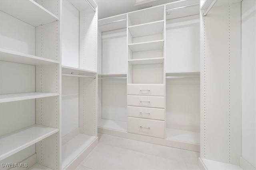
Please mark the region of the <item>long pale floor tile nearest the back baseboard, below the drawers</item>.
[[107, 135], [104, 138], [104, 141], [102, 141], [102, 144], [111, 145], [114, 147], [120, 147], [128, 150], [134, 150], [137, 152], [142, 152], [142, 153], [151, 154], [154, 156], [159, 156], [163, 158], [184, 162], [180, 149], [177, 149], [177, 148], [166, 147], [166, 146], [146, 143], [142, 141], [135, 141], [132, 139], [125, 139], [121, 137], [114, 137], [110, 135]]

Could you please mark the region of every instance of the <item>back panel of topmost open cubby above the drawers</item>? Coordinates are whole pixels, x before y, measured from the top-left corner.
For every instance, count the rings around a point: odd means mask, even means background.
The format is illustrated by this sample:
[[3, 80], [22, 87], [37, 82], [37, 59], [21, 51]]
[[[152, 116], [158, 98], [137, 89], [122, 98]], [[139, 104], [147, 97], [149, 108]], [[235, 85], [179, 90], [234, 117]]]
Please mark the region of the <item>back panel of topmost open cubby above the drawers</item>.
[[163, 20], [164, 14], [164, 6], [130, 12], [128, 13], [128, 17], [130, 18], [130, 25], [128, 26]]

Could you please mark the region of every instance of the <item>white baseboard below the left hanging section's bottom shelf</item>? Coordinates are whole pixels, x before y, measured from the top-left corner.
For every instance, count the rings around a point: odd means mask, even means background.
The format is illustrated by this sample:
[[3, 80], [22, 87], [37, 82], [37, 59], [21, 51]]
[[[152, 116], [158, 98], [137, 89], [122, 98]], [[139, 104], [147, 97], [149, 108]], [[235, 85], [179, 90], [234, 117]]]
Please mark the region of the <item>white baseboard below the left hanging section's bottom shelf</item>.
[[86, 158], [86, 156], [98, 145], [98, 137], [90, 143], [72, 162], [70, 162], [63, 170], [74, 170]]

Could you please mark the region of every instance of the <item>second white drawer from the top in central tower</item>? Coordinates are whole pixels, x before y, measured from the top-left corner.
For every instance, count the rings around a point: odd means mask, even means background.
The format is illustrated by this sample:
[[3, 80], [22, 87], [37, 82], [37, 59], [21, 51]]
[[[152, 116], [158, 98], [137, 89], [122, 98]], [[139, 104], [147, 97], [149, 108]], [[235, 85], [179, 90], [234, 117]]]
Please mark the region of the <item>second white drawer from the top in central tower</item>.
[[165, 108], [165, 97], [162, 96], [127, 96], [128, 106]]

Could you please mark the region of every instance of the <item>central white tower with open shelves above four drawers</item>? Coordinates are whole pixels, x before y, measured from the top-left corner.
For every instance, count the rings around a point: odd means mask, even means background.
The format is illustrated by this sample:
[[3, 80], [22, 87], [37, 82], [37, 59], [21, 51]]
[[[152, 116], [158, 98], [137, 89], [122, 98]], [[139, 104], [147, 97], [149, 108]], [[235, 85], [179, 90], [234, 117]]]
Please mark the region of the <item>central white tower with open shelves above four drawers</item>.
[[128, 13], [127, 131], [165, 138], [165, 6]]

